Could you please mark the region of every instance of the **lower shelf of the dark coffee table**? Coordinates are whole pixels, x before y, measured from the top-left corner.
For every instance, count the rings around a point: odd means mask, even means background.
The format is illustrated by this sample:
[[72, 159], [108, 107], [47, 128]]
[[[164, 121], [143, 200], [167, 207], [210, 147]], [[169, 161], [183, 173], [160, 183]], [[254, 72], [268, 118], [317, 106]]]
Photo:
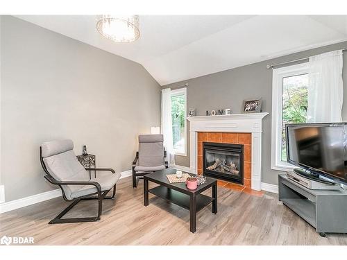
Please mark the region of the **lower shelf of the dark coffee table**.
[[[189, 210], [190, 196], [185, 193], [174, 191], [173, 189], [169, 189], [164, 186], [158, 186], [153, 189], [149, 189], [149, 192], [154, 194], [155, 196], [163, 198], [164, 200], [167, 200]], [[198, 194], [196, 196], [196, 212], [209, 205], [213, 200], [214, 198], [205, 196], [203, 194]]]

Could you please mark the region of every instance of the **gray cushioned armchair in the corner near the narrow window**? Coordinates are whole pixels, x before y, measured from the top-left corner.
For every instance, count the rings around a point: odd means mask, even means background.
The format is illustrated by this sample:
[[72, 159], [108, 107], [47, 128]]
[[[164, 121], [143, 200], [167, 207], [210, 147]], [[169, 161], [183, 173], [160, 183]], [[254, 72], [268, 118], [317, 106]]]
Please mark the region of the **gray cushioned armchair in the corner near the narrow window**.
[[139, 135], [139, 151], [133, 161], [133, 187], [137, 187], [137, 177], [168, 168], [167, 153], [163, 146], [163, 135]]

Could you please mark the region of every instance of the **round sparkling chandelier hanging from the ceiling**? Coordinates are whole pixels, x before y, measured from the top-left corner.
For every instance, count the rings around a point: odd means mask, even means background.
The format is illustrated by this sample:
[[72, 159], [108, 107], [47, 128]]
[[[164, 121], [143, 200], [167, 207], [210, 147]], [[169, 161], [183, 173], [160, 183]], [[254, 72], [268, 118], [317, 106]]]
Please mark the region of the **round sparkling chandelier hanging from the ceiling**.
[[134, 42], [139, 38], [139, 16], [100, 15], [96, 28], [114, 42]]

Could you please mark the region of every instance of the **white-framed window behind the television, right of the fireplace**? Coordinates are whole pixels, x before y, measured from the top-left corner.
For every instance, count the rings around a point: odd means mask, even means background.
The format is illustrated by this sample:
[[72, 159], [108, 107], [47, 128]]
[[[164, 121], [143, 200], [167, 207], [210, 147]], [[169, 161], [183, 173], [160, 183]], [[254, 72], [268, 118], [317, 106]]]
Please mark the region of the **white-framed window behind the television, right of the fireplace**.
[[271, 168], [287, 171], [286, 123], [305, 123], [307, 119], [307, 63], [273, 69]]

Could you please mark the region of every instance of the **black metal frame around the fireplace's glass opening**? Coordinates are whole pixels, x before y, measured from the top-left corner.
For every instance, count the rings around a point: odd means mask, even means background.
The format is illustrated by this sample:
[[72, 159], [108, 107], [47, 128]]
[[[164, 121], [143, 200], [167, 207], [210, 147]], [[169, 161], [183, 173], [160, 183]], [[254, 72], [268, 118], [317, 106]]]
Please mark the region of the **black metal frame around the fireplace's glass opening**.
[[[221, 150], [233, 153], [239, 153], [239, 177], [233, 175], [226, 175], [224, 173], [218, 173], [217, 171], [211, 171], [206, 168], [205, 150]], [[219, 180], [226, 180], [228, 182], [234, 182], [237, 184], [244, 184], [244, 145], [243, 144], [226, 144], [226, 143], [210, 143], [203, 142], [203, 175], [214, 177]]]

